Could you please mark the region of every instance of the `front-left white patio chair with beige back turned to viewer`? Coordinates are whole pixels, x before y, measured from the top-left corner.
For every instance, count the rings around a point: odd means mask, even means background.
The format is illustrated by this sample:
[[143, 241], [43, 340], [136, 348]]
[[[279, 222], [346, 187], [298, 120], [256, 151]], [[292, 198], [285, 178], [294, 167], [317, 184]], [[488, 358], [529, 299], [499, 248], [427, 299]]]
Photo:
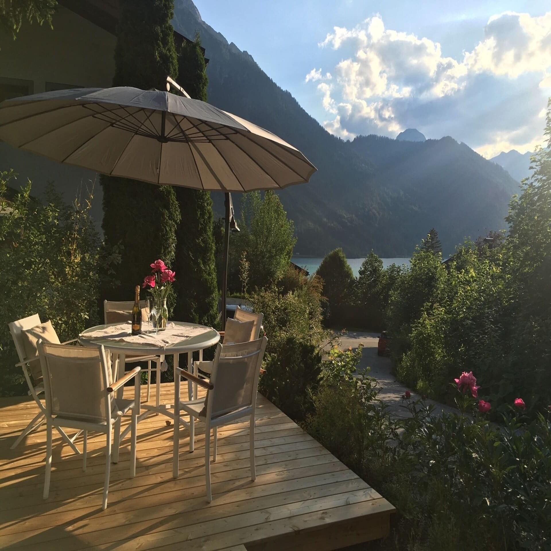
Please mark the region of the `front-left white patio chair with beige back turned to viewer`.
[[[84, 431], [83, 471], [86, 470], [88, 431], [106, 435], [105, 483], [102, 509], [107, 507], [111, 471], [111, 436], [115, 425], [113, 455], [118, 461], [121, 418], [132, 409], [130, 476], [136, 474], [136, 431], [139, 414], [140, 368], [134, 368], [117, 382], [111, 380], [111, 366], [104, 347], [70, 347], [38, 342], [46, 399], [46, 477], [44, 499], [50, 491], [52, 469], [52, 427], [69, 427]], [[134, 378], [134, 399], [115, 399], [114, 392]]]

